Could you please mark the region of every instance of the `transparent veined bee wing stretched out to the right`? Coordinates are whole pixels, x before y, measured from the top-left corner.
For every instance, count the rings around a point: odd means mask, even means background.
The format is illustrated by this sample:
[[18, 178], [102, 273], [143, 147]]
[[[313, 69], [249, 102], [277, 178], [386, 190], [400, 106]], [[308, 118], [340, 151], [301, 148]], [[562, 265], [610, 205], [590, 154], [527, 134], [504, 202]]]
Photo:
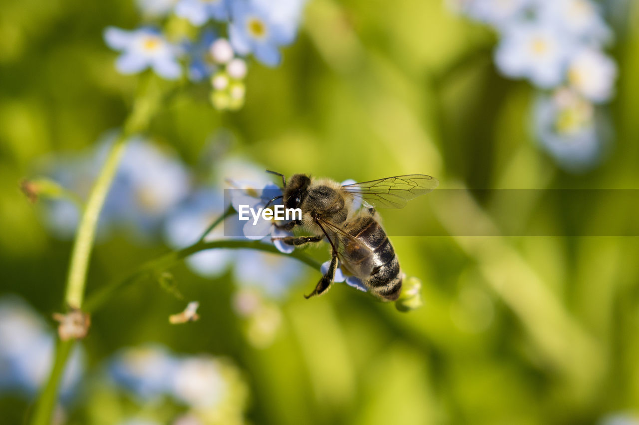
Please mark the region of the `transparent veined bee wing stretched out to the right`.
[[342, 189], [379, 208], [404, 208], [410, 199], [427, 194], [438, 185], [436, 178], [426, 174], [406, 174], [344, 185]]

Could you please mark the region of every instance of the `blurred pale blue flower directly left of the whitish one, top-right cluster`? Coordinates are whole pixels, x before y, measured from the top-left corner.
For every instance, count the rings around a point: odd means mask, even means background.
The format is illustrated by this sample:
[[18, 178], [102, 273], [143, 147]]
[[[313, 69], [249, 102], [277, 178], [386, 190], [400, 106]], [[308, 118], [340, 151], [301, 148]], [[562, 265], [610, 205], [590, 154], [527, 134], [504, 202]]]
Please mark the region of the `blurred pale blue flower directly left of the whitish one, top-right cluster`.
[[518, 22], [505, 29], [495, 52], [495, 63], [508, 77], [528, 78], [540, 88], [564, 80], [573, 46], [555, 27]]

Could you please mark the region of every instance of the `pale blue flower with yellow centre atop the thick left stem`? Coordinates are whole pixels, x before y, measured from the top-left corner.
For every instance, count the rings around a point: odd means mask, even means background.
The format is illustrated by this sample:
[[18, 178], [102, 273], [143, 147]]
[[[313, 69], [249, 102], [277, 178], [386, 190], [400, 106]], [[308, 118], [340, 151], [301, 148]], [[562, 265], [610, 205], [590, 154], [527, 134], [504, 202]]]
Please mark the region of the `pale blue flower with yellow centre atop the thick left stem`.
[[181, 75], [178, 62], [180, 50], [167, 42], [155, 28], [142, 27], [125, 31], [107, 27], [104, 40], [111, 49], [122, 52], [116, 61], [116, 68], [121, 73], [139, 73], [152, 68], [155, 73], [170, 80]]

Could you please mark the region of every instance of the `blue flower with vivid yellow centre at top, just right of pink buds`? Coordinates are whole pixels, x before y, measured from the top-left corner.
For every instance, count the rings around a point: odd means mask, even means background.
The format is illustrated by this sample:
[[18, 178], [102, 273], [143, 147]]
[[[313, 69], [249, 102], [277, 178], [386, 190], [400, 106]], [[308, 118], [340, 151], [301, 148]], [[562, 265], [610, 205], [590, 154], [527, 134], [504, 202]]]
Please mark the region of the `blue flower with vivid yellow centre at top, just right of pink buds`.
[[229, 26], [233, 48], [242, 55], [254, 54], [265, 65], [279, 65], [281, 55], [278, 47], [295, 40], [298, 26], [298, 14], [286, 12], [303, 3], [233, 1]]

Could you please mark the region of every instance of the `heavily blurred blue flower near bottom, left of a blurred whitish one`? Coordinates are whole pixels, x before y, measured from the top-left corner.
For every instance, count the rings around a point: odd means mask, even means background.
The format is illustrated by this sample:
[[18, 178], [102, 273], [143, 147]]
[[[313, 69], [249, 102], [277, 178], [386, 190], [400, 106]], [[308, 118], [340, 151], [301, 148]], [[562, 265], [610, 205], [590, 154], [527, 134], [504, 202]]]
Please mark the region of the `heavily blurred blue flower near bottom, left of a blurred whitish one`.
[[109, 375], [117, 385], [146, 401], [171, 391], [177, 364], [162, 346], [127, 348], [111, 360]]

